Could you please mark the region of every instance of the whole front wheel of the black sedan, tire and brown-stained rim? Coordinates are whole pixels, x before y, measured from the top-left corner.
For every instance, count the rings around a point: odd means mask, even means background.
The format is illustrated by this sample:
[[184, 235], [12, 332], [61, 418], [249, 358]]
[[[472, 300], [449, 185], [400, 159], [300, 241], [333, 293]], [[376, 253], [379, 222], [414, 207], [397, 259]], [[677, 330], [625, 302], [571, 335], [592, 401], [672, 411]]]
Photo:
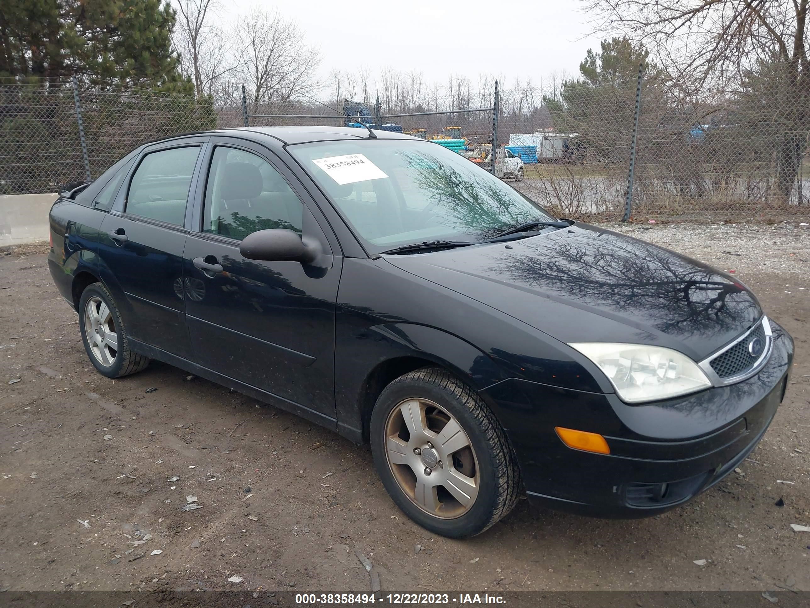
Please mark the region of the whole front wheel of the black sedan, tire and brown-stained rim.
[[475, 536], [518, 500], [520, 471], [500, 423], [445, 370], [425, 367], [390, 383], [374, 405], [370, 439], [391, 499], [433, 533]]

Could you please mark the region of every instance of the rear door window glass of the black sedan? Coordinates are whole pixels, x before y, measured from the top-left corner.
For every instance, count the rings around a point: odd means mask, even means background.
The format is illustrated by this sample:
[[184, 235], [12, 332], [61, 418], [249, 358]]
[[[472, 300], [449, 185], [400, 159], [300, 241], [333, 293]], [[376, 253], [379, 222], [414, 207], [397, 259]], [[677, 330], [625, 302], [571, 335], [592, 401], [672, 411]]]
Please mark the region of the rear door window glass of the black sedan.
[[126, 212], [181, 226], [199, 146], [151, 152], [132, 176]]

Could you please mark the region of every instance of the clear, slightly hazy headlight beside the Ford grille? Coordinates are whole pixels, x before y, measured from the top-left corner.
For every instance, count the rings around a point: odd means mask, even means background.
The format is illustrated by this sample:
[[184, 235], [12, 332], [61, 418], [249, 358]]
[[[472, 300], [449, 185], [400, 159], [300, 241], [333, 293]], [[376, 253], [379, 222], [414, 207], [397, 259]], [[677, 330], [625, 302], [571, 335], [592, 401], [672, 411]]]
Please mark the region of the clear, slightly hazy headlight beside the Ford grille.
[[569, 346], [595, 362], [628, 403], [668, 399], [711, 386], [703, 370], [676, 350], [606, 342]]

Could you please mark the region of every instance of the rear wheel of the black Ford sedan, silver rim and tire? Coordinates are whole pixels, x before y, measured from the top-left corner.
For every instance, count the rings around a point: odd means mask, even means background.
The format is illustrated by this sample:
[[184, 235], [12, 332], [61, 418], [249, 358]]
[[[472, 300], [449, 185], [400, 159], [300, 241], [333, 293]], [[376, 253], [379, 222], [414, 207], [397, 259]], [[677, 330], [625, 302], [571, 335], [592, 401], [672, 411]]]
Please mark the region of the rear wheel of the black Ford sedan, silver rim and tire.
[[101, 375], [121, 378], [149, 365], [148, 358], [130, 350], [121, 314], [102, 283], [87, 285], [82, 292], [79, 331], [87, 357]]

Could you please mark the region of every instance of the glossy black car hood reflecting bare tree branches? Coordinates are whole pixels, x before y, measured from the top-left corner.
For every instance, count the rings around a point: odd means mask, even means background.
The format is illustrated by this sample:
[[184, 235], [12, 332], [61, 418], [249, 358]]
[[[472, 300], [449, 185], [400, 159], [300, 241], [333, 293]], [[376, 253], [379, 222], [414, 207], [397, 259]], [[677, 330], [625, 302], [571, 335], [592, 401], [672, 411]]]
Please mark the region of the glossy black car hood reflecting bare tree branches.
[[762, 314], [757, 298], [733, 277], [586, 224], [386, 259], [565, 343], [659, 345], [699, 361]]

